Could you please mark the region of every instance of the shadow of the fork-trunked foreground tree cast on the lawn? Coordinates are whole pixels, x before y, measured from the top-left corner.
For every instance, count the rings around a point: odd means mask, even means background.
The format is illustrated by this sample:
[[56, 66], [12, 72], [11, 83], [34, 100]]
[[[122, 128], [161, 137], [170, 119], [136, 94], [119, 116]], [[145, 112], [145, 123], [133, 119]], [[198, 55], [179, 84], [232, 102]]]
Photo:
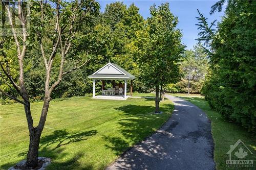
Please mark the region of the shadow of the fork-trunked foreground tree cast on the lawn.
[[[49, 166], [49, 169], [93, 169], [93, 165], [80, 164], [77, 160], [83, 156], [83, 153], [75, 153], [69, 159], [61, 161], [62, 158], [69, 157], [70, 153], [65, 152], [63, 145], [87, 140], [90, 136], [96, 135], [96, 130], [84, 131], [84, 132], [68, 132], [67, 130], [55, 130], [52, 134], [43, 136], [40, 139], [39, 156], [48, 157], [53, 160], [53, 163]], [[18, 156], [26, 156], [28, 151], [19, 153]], [[56, 159], [55, 159], [56, 158]], [[15, 162], [17, 163], [17, 162]], [[1, 168], [8, 169], [15, 163], [7, 163], [1, 166]]]

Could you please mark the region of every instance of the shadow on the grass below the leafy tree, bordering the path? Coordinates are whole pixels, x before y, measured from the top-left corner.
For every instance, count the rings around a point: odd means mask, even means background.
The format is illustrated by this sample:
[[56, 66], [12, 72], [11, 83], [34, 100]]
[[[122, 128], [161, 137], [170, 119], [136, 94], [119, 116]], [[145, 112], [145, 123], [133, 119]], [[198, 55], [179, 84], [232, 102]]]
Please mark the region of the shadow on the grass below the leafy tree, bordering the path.
[[[171, 104], [163, 104], [161, 109], [166, 112], [166, 109], [173, 108]], [[139, 141], [145, 139], [158, 129], [168, 117], [167, 114], [155, 114], [154, 106], [140, 105], [125, 105], [116, 108], [122, 111], [123, 118], [119, 120], [120, 136], [103, 136], [103, 139], [108, 141], [105, 147], [111, 149], [116, 155], [120, 155], [129, 147]]]

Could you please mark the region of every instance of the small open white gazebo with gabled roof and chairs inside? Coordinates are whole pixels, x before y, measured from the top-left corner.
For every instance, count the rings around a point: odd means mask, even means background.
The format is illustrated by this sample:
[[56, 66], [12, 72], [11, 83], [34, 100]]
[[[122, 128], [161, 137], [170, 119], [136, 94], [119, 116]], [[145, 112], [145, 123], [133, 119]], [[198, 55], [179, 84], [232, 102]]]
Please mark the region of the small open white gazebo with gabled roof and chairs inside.
[[[132, 83], [135, 76], [125, 71], [119, 65], [109, 62], [90, 75], [89, 78], [93, 79], [93, 99], [126, 100], [130, 96], [126, 95], [127, 80], [131, 81], [130, 94], [132, 94]], [[102, 81], [101, 95], [95, 95], [95, 82], [97, 80]], [[104, 89], [105, 80], [112, 80], [113, 87]], [[116, 84], [115, 80], [123, 80], [124, 85], [121, 83]]]

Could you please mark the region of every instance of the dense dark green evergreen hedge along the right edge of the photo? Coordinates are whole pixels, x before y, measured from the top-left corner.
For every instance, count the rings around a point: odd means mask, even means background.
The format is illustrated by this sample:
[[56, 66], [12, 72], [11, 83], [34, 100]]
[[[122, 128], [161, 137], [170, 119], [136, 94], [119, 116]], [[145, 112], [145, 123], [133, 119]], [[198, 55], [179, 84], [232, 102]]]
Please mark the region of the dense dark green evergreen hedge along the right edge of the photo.
[[256, 132], [256, 1], [230, 1], [211, 37], [211, 67], [202, 88], [209, 105]]

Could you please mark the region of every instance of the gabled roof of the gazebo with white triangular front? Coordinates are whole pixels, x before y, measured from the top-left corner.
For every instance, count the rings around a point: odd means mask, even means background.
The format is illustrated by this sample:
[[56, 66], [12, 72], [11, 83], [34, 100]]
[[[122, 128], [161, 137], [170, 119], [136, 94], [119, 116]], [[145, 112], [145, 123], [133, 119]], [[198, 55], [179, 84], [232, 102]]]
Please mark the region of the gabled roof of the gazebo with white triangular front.
[[100, 69], [98, 69], [94, 74], [90, 75], [89, 78], [93, 79], [135, 79], [135, 76], [124, 70], [117, 64], [109, 62]]

